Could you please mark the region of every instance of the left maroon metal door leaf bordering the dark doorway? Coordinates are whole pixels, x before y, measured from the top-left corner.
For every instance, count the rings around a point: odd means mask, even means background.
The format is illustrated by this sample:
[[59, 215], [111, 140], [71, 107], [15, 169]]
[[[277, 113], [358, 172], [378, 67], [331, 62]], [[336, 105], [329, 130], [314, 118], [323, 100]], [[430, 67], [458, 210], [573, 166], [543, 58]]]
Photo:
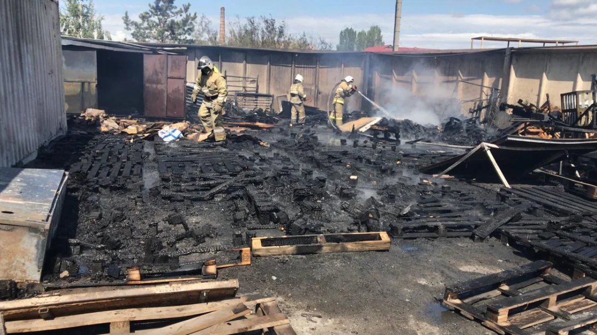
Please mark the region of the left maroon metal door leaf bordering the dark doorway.
[[167, 55], [143, 55], [145, 116], [166, 116]]

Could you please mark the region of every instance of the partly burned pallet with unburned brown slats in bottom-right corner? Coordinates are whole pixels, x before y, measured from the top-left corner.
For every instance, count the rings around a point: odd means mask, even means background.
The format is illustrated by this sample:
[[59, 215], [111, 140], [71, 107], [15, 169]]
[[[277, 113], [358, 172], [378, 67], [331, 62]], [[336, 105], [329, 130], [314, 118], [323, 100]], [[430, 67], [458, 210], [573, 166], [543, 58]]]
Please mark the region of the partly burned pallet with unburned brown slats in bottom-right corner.
[[597, 322], [597, 281], [565, 281], [539, 260], [446, 287], [442, 303], [500, 334], [568, 334]]

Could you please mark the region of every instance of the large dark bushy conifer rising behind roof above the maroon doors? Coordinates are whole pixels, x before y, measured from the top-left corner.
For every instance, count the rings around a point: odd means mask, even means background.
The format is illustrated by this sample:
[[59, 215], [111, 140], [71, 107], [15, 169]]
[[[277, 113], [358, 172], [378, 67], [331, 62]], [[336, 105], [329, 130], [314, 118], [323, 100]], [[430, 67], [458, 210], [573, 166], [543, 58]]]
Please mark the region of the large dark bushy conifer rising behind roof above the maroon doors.
[[181, 8], [176, 0], [154, 0], [149, 10], [139, 14], [139, 21], [132, 20], [128, 11], [122, 21], [127, 31], [138, 42], [192, 43], [197, 13], [189, 13], [190, 4]]

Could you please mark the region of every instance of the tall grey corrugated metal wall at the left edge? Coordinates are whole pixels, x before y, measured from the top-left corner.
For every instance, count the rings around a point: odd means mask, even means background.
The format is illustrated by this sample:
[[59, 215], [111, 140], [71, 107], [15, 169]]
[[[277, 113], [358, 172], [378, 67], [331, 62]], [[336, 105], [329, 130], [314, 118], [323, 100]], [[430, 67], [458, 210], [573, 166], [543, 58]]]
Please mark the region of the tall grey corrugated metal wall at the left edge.
[[58, 4], [0, 1], [0, 166], [66, 133]]

